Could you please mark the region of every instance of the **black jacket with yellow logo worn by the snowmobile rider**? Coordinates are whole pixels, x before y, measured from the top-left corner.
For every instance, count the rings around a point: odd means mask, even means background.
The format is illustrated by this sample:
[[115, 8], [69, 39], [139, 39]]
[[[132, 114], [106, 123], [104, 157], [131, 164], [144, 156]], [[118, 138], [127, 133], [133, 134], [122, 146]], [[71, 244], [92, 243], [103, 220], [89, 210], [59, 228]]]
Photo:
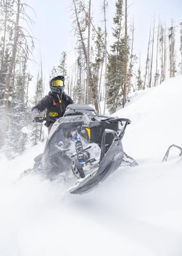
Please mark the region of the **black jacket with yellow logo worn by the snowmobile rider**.
[[[71, 97], [65, 93], [59, 95], [50, 91], [48, 95], [43, 97], [32, 109], [32, 113], [34, 113], [33, 117], [46, 110], [46, 126], [48, 127], [50, 122], [54, 123], [58, 118], [64, 115], [66, 107], [69, 104], [73, 104]], [[36, 111], [38, 111], [37, 114]]]

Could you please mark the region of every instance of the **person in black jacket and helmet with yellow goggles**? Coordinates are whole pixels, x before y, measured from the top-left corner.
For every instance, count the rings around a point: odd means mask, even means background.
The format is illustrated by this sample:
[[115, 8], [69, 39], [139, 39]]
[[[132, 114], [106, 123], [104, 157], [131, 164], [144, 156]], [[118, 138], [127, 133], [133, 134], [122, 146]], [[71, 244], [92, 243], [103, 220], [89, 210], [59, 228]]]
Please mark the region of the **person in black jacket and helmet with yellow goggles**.
[[46, 109], [46, 127], [48, 134], [53, 123], [65, 113], [66, 107], [73, 104], [70, 96], [65, 94], [64, 76], [53, 77], [49, 81], [50, 92], [43, 97], [34, 108], [32, 108], [32, 118], [36, 122], [42, 122], [44, 118], [40, 112]]

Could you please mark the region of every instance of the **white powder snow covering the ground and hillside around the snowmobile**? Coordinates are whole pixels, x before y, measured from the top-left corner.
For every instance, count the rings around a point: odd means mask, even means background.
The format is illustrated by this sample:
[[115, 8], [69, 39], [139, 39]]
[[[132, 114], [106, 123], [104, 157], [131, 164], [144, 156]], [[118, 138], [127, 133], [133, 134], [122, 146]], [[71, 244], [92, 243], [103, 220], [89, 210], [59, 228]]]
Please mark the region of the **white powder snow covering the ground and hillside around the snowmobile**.
[[100, 186], [79, 196], [72, 184], [19, 175], [33, 165], [44, 143], [12, 161], [0, 157], [0, 255], [181, 256], [182, 77], [131, 97], [116, 115], [132, 120], [124, 151], [139, 166], [119, 168]]

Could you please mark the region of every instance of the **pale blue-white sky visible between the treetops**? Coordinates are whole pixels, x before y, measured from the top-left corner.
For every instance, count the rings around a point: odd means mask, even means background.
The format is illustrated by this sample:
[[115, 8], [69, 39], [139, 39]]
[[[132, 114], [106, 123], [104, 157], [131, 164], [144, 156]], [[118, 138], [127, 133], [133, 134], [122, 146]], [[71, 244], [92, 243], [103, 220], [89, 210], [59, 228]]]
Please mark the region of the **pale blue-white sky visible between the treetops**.
[[[30, 72], [34, 75], [32, 89], [36, 83], [36, 77], [40, 66], [40, 53], [42, 56], [43, 77], [48, 86], [49, 72], [53, 66], [57, 66], [61, 57], [61, 52], [68, 53], [68, 66], [72, 65], [74, 58], [74, 33], [72, 31], [72, 11], [71, 1], [63, 0], [28, 0], [28, 4], [35, 10], [35, 13], [29, 9], [29, 15], [35, 24], [31, 26], [35, 39], [35, 49], [33, 52], [36, 62], [29, 63]], [[103, 26], [103, 12], [101, 0], [92, 0], [93, 23], [95, 26]], [[115, 14], [115, 0], [108, 0], [107, 9], [107, 28], [108, 45], [112, 41], [113, 16]], [[128, 0], [128, 25], [134, 20], [134, 51], [139, 56], [141, 54], [141, 63], [144, 65], [144, 58], [147, 53], [147, 44], [149, 36], [150, 23], [155, 16], [158, 20], [167, 23], [170, 26], [171, 18], [175, 25], [182, 22], [180, 10], [182, 9], [181, 0]], [[178, 28], [179, 29], [179, 26]], [[179, 40], [179, 33], [176, 33], [176, 40]], [[48, 90], [48, 88], [47, 88]]]

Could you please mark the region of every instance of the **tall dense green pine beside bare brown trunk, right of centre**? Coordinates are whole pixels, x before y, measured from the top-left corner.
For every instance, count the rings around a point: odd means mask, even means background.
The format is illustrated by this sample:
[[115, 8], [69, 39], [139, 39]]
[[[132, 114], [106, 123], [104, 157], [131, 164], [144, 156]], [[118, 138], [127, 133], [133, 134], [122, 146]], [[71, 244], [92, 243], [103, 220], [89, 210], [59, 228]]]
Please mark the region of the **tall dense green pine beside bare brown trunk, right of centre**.
[[[129, 49], [125, 48], [125, 37], [122, 37], [122, 5], [123, 1], [116, 2], [116, 15], [113, 18], [115, 28], [113, 36], [114, 44], [111, 46], [112, 53], [108, 58], [108, 98], [107, 106], [111, 113], [123, 104], [124, 82], [125, 82], [125, 58]], [[126, 53], [127, 52], [127, 53]]]

